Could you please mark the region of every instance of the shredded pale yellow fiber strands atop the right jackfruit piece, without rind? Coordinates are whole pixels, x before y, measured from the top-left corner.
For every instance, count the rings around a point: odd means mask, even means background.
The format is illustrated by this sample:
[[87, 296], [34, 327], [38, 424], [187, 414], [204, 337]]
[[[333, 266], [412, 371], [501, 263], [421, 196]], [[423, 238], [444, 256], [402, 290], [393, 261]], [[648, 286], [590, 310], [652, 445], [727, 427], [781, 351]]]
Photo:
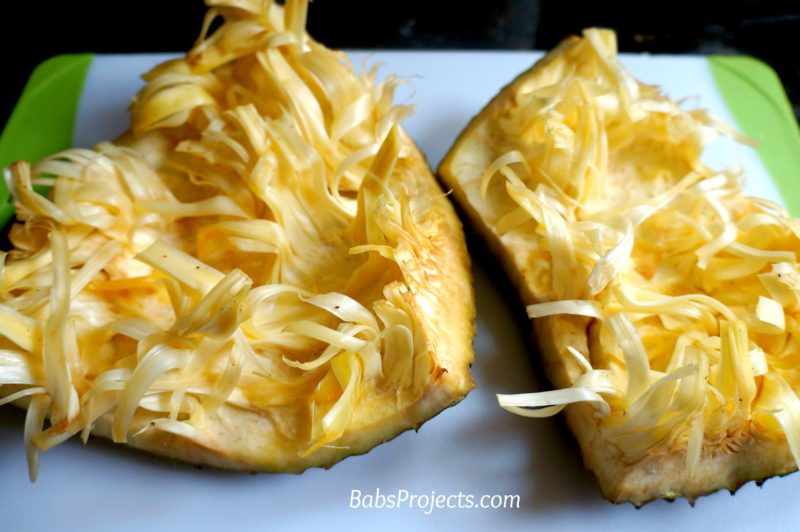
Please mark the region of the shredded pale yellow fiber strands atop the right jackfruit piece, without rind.
[[530, 317], [585, 317], [590, 348], [563, 355], [571, 387], [500, 404], [588, 402], [625, 460], [684, 450], [690, 475], [749, 437], [786, 438], [800, 464], [800, 222], [700, 162], [715, 137], [749, 139], [638, 83], [613, 32], [584, 37], [498, 119], [510, 140], [480, 190], [501, 239], [552, 265]]

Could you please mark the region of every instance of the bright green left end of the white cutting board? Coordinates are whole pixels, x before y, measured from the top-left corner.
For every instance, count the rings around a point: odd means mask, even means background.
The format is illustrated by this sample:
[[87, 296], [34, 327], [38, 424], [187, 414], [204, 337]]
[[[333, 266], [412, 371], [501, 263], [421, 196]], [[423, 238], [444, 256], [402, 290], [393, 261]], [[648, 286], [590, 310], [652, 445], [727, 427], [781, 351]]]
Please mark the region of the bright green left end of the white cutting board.
[[[75, 117], [93, 54], [58, 55], [31, 74], [0, 135], [0, 167], [72, 147]], [[14, 216], [5, 179], [0, 179], [0, 226]]]

